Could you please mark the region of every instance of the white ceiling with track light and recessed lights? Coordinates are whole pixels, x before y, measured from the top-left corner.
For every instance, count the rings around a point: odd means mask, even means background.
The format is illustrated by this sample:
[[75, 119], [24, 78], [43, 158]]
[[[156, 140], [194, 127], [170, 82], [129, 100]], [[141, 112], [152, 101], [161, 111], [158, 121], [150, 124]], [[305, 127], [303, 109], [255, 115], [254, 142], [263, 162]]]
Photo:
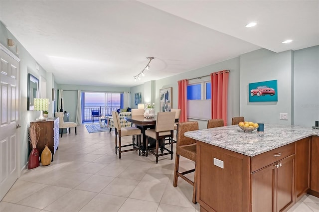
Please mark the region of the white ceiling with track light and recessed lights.
[[0, 20], [58, 84], [132, 87], [319, 45], [319, 0], [0, 0]]

